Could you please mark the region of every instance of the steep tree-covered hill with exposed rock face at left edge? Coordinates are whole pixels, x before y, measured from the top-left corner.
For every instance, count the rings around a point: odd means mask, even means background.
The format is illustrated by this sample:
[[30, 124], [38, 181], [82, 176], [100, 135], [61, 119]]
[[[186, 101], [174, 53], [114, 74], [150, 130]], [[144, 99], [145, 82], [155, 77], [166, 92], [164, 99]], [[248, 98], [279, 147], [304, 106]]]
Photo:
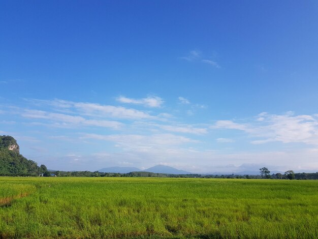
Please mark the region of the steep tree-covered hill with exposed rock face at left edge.
[[28, 160], [20, 155], [19, 145], [11, 136], [0, 136], [0, 176], [48, 175], [45, 165]]

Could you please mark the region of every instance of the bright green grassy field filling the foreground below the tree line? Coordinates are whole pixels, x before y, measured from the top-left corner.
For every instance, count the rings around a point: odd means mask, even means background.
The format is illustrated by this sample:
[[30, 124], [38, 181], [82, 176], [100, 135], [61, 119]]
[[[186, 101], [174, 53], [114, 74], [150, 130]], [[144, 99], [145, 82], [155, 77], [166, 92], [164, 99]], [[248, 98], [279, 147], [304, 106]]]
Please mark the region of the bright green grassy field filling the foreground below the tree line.
[[318, 181], [0, 177], [0, 238], [317, 238]]

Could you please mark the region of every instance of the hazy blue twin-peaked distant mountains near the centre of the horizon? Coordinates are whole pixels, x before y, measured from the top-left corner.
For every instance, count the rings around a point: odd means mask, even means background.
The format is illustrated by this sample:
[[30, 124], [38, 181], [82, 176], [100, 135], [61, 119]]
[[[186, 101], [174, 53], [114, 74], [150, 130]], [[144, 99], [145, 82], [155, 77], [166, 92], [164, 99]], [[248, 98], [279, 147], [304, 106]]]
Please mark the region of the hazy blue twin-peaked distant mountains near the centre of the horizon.
[[166, 165], [156, 165], [144, 170], [135, 167], [109, 167], [101, 168], [99, 172], [116, 172], [116, 173], [129, 173], [129, 172], [154, 172], [154, 173], [167, 173], [167, 174], [192, 174], [192, 172], [176, 169]]

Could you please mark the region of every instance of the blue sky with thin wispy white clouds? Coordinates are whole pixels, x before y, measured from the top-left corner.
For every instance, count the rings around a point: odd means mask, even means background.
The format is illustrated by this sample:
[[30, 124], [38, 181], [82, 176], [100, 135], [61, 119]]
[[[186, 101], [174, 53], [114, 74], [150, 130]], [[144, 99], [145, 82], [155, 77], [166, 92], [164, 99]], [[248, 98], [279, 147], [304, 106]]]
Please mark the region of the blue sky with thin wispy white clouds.
[[59, 170], [318, 170], [316, 1], [2, 1], [0, 134]]

